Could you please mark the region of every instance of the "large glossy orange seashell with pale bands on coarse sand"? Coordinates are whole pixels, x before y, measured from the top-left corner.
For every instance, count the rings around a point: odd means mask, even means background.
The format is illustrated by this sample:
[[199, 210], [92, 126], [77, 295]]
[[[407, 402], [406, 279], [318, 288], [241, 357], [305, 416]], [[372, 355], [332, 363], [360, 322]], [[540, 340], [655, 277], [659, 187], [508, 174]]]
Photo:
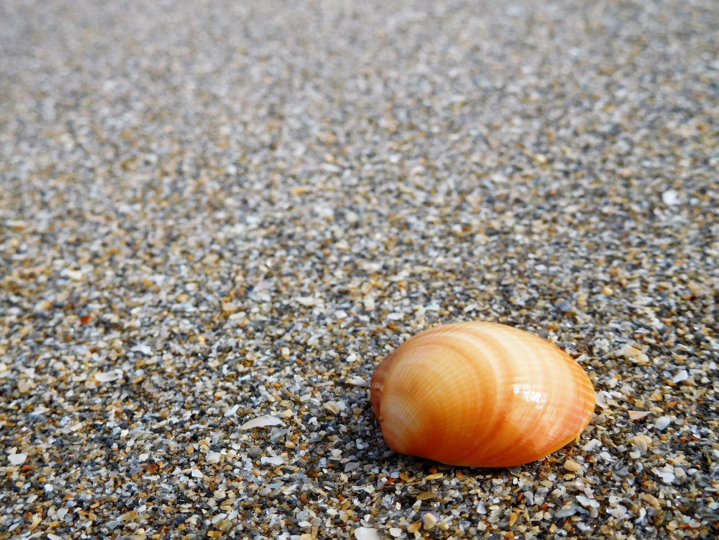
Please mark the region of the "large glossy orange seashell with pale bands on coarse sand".
[[542, 459], [577, 438], [595, 406], [592, 382], [567, 353], [481, 322], [408, 339], [377, 366], [371, 396], [391, 449], [469, 467]]

